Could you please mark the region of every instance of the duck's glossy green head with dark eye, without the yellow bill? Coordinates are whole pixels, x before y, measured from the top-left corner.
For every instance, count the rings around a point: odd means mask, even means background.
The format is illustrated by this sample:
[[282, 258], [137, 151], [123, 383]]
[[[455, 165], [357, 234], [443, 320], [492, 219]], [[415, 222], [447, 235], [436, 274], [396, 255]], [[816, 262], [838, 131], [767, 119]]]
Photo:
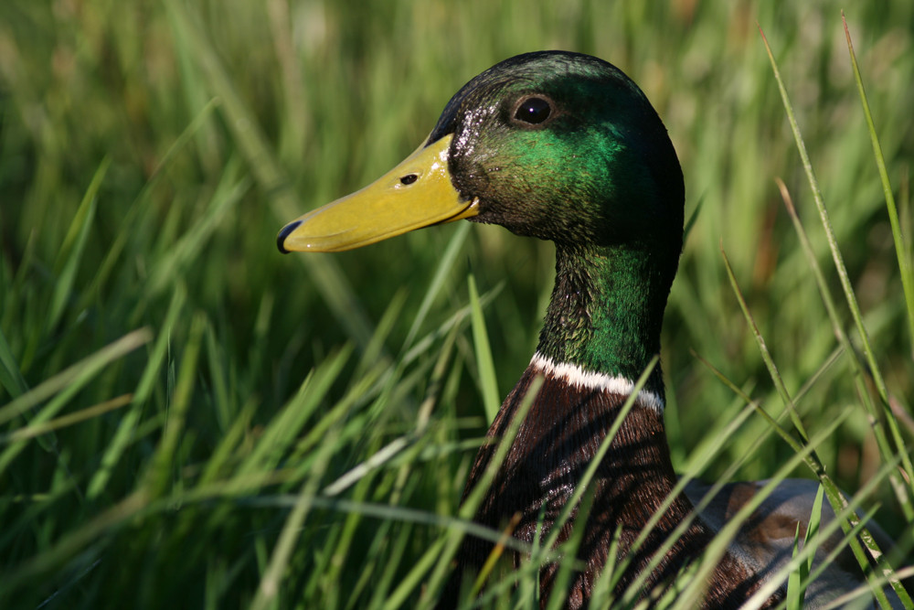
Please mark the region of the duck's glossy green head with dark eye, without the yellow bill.
[[632, 80], [587, 55], [507, 59], [453, 96], [429, 143], [453, 135], [449, 167], [473, 220], [551, 241], [664, 241], [678, 256], [683, 177]]

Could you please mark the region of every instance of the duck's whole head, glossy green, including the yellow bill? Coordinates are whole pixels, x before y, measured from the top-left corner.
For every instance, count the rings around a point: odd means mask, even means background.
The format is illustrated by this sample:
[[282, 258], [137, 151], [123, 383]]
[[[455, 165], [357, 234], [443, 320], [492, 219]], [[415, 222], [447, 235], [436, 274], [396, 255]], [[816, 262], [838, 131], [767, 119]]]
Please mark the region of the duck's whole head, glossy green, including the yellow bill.
[[559, 244], [660, 247], [675, 273], [682, 170], [621, 70], [577, 53], [527, 53], [464, 85], [415, 153], [289, 223], [277, 243], [343, 251], [457, 219]]

